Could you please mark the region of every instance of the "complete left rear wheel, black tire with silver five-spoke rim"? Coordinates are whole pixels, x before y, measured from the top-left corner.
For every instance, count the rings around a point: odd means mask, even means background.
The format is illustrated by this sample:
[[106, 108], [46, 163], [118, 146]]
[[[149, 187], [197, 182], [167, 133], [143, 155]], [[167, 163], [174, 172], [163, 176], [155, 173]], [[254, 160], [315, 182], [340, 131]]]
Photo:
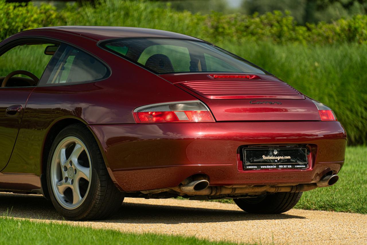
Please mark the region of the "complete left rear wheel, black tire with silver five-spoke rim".
[[92, 133], [79, 124], [66, 127], [55, 138], [47, 185], [56, 210], [70, 220], [106, 218], [124, 199], [110, 179]]

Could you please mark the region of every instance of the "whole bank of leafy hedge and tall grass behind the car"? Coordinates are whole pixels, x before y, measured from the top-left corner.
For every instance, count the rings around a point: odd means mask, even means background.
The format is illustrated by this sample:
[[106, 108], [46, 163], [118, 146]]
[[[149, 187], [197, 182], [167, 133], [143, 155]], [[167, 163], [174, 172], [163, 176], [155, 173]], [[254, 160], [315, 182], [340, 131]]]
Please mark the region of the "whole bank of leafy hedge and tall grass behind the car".
[[[16, 7], [17, 6], [17, 7]], [[330, 106], [349, 144], [367, 143], [367, 16], [298, 26], [280, 12], [246, 16], [177, 12], [147, 1], [104, 0], [61, 11], [0, 0], [0, 38], [52, 25], [155, 28], [216, 43]]]

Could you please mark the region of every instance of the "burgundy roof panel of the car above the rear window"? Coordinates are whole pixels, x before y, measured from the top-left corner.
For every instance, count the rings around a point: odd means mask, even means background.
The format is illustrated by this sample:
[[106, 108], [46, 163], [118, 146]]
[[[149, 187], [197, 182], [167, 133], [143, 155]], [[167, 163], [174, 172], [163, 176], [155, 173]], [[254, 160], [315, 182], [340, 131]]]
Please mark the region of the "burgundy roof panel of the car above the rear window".
[[168, 32], [165, 30], [120, 26], [53, 26], [37, 28], [35, 30], [54, 30], [68, 32], [98, 41], [119, 37], [165, 37], [201, 41], [200, 39], [197, 39], [195, 37], [175, 32]]

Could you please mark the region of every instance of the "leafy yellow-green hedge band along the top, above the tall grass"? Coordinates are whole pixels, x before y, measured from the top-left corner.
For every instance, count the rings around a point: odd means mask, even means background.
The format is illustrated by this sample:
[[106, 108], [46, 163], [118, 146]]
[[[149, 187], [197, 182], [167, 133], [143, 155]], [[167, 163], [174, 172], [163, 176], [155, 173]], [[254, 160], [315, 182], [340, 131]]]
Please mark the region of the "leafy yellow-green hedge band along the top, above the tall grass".
[[53, 25], [135, 26], [170, 30], [216, 42], [228, 40], [270, 40], [275, 43], [333, 44], [367, 42], [367, 15], [355, 15], [326, 24], [297, 25], [280, 11], [264, 15], [208, 15], [178, 12], [169, 5], [148, 1], [101, 0], [96, 6], [69, 5], [57, 11], [49, 4], [5, 3], [0, 0], [0, 38], [21, 30]]

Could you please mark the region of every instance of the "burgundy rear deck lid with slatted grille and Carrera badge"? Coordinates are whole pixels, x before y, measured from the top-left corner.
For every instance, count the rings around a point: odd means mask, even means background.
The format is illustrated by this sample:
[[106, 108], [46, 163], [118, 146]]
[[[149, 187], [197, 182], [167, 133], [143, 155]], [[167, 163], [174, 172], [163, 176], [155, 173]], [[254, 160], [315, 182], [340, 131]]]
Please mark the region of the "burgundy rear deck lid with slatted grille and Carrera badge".
[[160, 76], [206, 103], [217, 121], [320, 120], [315, 104], [287, 83], [270, 75], [233, 75]]

